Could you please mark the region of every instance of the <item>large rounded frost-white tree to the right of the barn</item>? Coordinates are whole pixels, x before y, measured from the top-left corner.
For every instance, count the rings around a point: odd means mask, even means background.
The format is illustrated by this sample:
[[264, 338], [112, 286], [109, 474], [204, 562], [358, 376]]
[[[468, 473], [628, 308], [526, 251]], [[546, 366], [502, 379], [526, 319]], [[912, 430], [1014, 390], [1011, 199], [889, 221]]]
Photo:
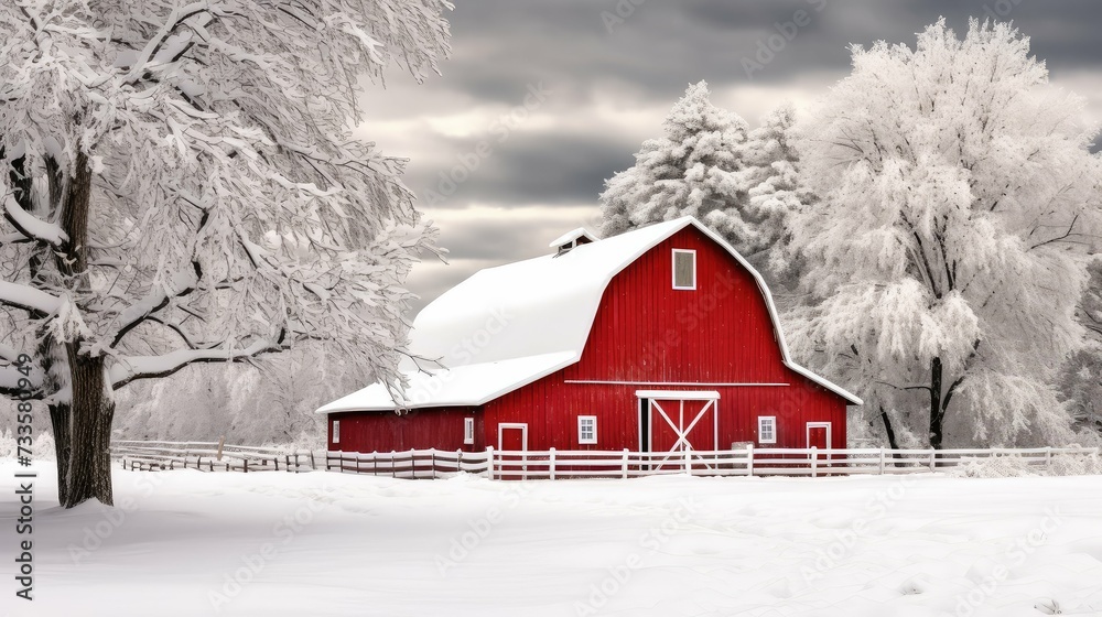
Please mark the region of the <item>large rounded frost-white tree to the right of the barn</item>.
[[1099, 207], [1081, 109], [1006, 24], [854, 47], [795, 140], [821, 198], [792, 218], [797, 355], [821, 353], [871, 413], [925, 408], [933, 447], [1068, 439], [1055, 372], [1082, 342]]

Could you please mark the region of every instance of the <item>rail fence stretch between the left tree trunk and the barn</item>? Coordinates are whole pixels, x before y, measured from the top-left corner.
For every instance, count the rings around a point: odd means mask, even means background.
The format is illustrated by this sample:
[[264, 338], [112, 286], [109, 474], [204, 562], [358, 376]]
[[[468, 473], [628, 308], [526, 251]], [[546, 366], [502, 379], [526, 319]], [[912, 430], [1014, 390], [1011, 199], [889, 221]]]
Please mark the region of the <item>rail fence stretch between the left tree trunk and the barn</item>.
[[111, 457], [125, 469], [199, 469], [203, 472], [310, 472], [314, 454], [306, 450], [255, 447], [224, 442], [111, 442]]

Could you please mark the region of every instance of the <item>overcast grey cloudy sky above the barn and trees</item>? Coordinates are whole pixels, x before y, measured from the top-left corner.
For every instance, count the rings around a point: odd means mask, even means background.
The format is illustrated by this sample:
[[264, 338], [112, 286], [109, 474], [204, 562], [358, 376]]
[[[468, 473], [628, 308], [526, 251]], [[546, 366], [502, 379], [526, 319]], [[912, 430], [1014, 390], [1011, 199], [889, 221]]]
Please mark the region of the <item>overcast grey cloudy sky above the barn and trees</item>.
[[[784, 100], [814, 105], [849, 74], [852, 43], [914, 46], [941, 15], [961, 35], [969, 15], [991, 15], [1028, 35], [1052, 83], [1085, 97], [1088, 119], [1102, 120], [1098, 0], [454, 2], [443, 75], [417, 85], [393, 72], [368, 91], [363, 127], [388, 154], [411, 159], [406, 182], [451, 251], [450, 264], [414, 270], [415, 310], [478, 269], [595, 228], [604, 181], [633, 164], [701, 79], [713, 104], [756, 126]], [[793, 21], [807, 23], [795, 35]], [[791, 40], [775, 36], [781, 48], [770, 58], [760, 50], [778, 30]], [[744, 61], [761, 67], [748, 74]]]

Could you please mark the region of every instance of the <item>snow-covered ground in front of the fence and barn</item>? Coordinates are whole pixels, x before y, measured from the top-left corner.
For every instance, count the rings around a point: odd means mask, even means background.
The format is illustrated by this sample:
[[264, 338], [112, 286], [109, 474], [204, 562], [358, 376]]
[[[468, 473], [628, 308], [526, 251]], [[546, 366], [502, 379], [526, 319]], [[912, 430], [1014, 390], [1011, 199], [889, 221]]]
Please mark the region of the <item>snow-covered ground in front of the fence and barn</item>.
[[[0, 463], [11, 484], [20, 470]], [[1102, 477], [500, 483], [116, 470], [0, 614], [1102, 615]], [[12, 570], [15, 488], [2, 491]]]

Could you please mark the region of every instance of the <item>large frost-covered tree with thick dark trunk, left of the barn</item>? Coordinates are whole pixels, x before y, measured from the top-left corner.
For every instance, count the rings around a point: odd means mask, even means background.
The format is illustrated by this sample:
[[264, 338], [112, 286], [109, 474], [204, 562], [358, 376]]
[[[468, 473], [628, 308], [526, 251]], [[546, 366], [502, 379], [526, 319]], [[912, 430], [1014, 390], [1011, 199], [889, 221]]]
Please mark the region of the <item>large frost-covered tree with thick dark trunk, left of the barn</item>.
[[[385, 379], [431, 232], [358, 86], [447, 53], [445, 0], [0, 3], [0, 388], [61, 502], [111, 502], [112, 391], [325, 339]], [[28, 386], [28, 383], [23, 383]]]

